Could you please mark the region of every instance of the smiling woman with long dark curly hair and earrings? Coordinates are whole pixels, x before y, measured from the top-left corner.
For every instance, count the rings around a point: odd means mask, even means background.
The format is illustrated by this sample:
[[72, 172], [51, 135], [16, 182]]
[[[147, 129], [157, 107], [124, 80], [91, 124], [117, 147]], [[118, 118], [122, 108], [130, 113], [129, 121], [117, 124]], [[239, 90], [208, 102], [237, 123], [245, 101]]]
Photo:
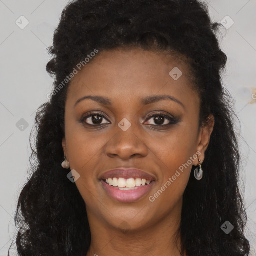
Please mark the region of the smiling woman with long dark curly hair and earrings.
[[196, 0], [64, 9], [19, 255], [248, 255], [218, 26]]

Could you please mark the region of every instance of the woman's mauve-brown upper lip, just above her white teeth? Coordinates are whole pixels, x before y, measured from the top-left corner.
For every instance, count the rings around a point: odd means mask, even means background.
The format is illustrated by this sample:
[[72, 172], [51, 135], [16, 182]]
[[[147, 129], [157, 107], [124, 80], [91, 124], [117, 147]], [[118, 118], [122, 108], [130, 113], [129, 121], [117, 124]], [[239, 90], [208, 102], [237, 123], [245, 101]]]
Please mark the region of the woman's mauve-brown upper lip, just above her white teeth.
[[136, 168], [117, 168], [106, 171], [100, 176], [100, 179], [107, 179], [107, 178], [144, 178], [146, 180], [153, 181], [155, 177]]

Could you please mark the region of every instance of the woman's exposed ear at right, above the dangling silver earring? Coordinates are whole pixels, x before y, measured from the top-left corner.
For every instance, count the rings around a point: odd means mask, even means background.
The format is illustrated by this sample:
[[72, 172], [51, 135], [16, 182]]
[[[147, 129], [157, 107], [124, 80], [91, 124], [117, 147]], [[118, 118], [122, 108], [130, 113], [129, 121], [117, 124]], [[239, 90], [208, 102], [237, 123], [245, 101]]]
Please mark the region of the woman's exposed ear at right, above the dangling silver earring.
[[[200, 128], [196, 147], [196, 154], [198, 157], [193, 161], [193, 165], [195, 166], [204, 161], [205, 151], [210, 142], [210, 135], [213, 131], [214, 123], [214, 116], [210, 114], [206, 123]], [[198, 159], [201, 161], [199, 162]]]

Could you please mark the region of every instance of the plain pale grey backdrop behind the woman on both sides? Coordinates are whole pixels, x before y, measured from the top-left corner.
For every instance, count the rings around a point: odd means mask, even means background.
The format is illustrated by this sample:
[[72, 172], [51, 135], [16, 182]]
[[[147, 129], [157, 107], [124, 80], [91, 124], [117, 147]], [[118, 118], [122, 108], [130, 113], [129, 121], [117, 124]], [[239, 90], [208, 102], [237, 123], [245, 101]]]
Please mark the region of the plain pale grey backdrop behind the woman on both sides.
[[[48, 101], [46, 95], [52, 90], [53, 79], [45, 69], [50, 59], [46, 48], [52, 44], [53, 31], [67, 3], [67, 0], [0, 0], [0, 256], [7, 255], [16, 232], [13, 216], [27, 180], [29, 134], [37, 108]], [[242, 153], [240, 187], [248, 215], [246, 235], [251, 242], [250, 255], [254, 255], [256, 0], [207, 0], [207, 3], [211, 19], [225, 25], [219, 34], [221, 48], [228, 57], [222, 77], [240, 120], [237, 121]]]

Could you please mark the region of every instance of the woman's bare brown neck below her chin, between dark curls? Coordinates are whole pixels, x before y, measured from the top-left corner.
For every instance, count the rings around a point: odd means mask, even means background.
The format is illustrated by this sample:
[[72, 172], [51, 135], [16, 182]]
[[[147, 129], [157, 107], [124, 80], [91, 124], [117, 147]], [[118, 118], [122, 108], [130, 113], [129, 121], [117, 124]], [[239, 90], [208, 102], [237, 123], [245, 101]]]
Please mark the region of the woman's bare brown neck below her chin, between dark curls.
[[89, 223], [93, 222], [93, 225], [90, 225], [91, 244], [86, 256], [181, 256], [178, 233], [181, 208], [182, 200], [170, 214], [156, 223], [128, 231], [113, 228], [102, 220], [93, 220], [95, 214], [87, 209]]

